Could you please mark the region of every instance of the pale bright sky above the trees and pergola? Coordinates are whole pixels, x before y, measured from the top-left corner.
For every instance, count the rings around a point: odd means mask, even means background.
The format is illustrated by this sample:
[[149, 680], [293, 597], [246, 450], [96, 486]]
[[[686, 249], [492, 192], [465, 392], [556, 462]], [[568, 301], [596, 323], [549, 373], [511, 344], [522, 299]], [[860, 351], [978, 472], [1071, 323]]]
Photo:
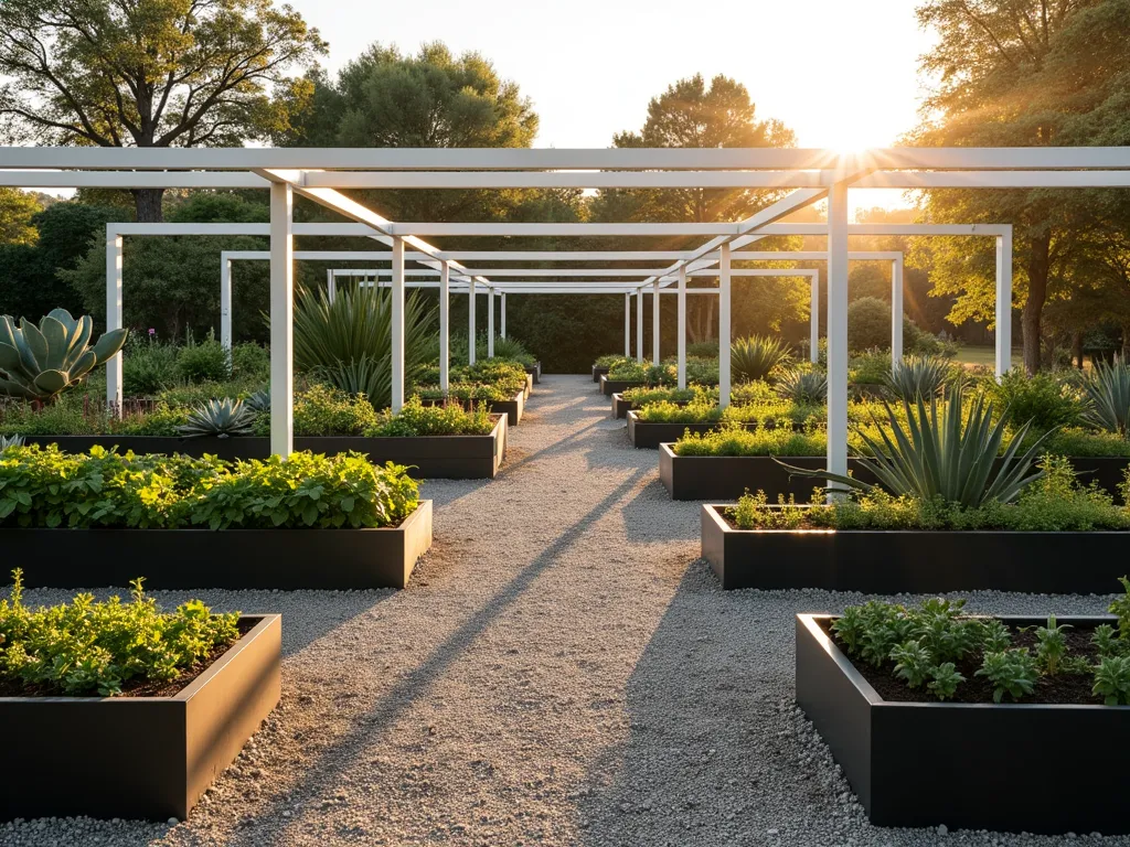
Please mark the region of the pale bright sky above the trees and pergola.
[[[333, 72], [377, 41], [478, 51], [533, 102], [536, 147], [608, 147], [695, 73], [745, 84], [758, 116], [783, 121], [800, 147], [888, 147], [916, 123], [918, 58], [932, 43], [913, 0], [290, 3], [329, 42]], [[852, 194], [855, 207], [904, 204], [897, 191]]]

